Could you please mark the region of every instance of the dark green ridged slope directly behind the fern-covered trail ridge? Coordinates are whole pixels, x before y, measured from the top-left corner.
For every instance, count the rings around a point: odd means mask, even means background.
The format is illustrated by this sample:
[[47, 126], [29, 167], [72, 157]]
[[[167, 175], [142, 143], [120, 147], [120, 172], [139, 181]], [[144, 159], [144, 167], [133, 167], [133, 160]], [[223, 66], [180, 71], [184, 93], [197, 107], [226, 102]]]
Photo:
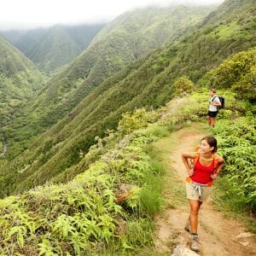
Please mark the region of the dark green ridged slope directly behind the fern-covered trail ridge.
[[[35, 139], [29, 150], [3, 164], [4, 172], [8, 173], [1, 182], [3, 191], [22, 190], [50, 180], [63, 181], [82, 172], [86, 165], [79, 166], [80, 155], [94, 143], [94, 137], [115, 128], [122, 113], [140, 107], [158, 108], [172, 98], [173, 84], [180, 76], [199, 81], [227, 56], [255, 46], [255, 8], [253, 13], [252, 8], [248, 6], [248, 13], [242, 10], [247, 23], [232, 20], [239, 26], [234, 38], [219, 37], [222, 24], [201, 26], [181, 42], [141, 57], [105, 80], [65, 119]], [[240, 9], [236, 9], [236, 14], [240, 15]], [[222, 19], [228, 16], [225, 14]], [[231, 25], [226, 23], [226, 26]], [[207, 80], [199, 82], [205, 85]]]

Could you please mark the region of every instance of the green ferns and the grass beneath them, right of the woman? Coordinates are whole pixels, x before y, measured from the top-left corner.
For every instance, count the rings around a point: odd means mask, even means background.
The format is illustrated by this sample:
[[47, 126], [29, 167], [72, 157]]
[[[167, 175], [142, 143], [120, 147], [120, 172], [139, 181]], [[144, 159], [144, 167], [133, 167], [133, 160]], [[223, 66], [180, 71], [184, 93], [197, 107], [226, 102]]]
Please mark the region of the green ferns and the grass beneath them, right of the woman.
[[255, 121], [247, 112], [246, 117], [226, 120], [214, 131], [226, 160], [221, 201], [236, 212], [256, 212]]

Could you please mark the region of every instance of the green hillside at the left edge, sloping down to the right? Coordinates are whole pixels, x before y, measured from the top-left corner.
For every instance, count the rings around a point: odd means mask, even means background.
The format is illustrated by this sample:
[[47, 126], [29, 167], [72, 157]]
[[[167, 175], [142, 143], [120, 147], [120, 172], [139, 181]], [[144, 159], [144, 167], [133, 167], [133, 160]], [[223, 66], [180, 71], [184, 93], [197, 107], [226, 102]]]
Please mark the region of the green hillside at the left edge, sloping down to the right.
[[42, 88], [42, 83], [43, 76], [32, 61], [0, 37], [0, 130], [12, 122], [17, 110]]

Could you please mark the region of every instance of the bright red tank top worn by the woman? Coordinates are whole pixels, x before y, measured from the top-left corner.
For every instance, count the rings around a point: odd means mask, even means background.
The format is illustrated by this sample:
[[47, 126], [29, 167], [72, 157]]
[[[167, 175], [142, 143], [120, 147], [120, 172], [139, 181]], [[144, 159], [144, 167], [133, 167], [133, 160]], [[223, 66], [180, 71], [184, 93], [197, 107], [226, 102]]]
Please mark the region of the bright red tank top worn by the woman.
[[211, 166], [202, 166], [200, 159], [195, 162], [194, 173], [191, 177], [195, 183], [207, 184], [212, 181], [212, 173], [214, 172], [214, 159]]

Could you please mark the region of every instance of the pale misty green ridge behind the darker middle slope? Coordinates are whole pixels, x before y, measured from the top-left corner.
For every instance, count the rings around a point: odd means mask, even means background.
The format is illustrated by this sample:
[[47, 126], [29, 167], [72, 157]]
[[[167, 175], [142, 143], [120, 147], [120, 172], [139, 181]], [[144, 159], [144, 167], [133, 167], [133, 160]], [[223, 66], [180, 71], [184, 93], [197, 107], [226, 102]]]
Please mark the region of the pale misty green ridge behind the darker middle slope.
[[76, 107], [104, 79], [136, 60], [138, 55], [164, 42], [177, 40], [188, 26], [191, 28], [191, 25], [197, 24], [208, 11], [209, 8], [184, 6], [139, 9], [113, 20], [88, 49], [67, 69], [50, 79], [45, 90], [24, 109], [27, 118], [17, 121], [22, 125], [20, 129], [16, 125], [15, 131], [11, 131], [9, 143], [12, 143], [13, 137], [26, 141], [28, 138], [24, 130], [45, 131]]

